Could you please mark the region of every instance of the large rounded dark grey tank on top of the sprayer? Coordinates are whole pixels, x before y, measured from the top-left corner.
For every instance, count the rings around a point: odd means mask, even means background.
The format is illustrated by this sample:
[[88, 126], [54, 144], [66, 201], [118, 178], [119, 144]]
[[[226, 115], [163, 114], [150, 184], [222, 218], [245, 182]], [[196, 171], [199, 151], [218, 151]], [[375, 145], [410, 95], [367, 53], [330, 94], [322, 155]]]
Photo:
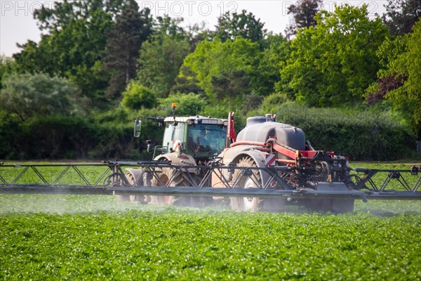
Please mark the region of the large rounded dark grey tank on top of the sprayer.
[[268, 138], [276, 136], [277, 141], [296, 150], [305, 150], [305, 135], [302, 129], [288, 124], [269, 121], [270, 118], [248, 117], [236, 141], [256, 141], [265, 143]]

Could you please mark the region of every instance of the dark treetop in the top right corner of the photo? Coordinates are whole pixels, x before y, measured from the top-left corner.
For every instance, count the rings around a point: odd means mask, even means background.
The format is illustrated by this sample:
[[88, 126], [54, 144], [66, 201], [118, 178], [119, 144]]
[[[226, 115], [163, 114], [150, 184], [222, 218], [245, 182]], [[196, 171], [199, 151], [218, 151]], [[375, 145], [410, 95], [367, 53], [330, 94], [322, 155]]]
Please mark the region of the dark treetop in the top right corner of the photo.
[[382, 18], [392, 35], [411, 32], [421, 17], [420, 0], [388, 0], [385, 7], [387, 13]]

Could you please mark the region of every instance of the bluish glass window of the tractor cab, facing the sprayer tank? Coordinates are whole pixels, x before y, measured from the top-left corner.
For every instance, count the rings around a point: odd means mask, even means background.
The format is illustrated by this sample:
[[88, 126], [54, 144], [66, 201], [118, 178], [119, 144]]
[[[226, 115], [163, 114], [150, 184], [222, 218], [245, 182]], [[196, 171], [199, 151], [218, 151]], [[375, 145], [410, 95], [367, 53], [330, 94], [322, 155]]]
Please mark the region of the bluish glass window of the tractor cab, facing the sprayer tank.
[[189, 126], [187, 149], [194, 156], [211, 157], [225, 148], [227, 129], [216, 124], [193, 124]]

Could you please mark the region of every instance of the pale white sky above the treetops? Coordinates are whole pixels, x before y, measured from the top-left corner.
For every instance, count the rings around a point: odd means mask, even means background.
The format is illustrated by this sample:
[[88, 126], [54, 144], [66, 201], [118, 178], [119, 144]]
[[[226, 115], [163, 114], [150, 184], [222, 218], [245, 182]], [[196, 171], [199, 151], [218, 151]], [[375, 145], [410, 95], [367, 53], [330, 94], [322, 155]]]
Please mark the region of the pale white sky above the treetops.
[[[20, 48], [16, 44], [25, 44], [28, 40], [38, 42], [41, 39], [41, 31], [36, 25], [33, 13], [41, 5], [53, 8], [55, 1], [17, 1], [0, 0], [0, 55], [11, 57], [18, 53]], [[152, 15], [170, 15], [174, 18], [184, 18], [184, 25], [194, 25], [205, 22], [206, 27], [215, 30], [218, 17], [230, 11], [241, 13], [242, 10], [253, 13], [255, 18], [260, 18], [265, 23], [265, 28], [275, 34], [282, 33], [290, 23], [290, 15], [287, 14], [288, 6], [296, 4], [296, 0], [180, 0], [180, 1], [137, 1], [140, 8], [150, 8]], [[375, 14], [385, 13], [384, 5], [387, 0], [347, 0], [347, 1], [323, 1], [323, 9], [333, 11], [335, 5], [351, 4], [353, 6], [368, 5], [368, 13], [371, 17]]]

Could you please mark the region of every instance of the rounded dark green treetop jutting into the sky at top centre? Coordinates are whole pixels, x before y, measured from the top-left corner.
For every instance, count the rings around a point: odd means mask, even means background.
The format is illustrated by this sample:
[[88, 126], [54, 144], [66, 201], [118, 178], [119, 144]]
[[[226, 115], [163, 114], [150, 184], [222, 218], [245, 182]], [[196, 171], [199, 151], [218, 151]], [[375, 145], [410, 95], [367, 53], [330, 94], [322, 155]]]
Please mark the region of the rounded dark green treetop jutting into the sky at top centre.
[[227, 12], [218, 18], [214, 36], [222, 42], [242, 37], [262, 44], [267, 32], [264, 26], [265, 23], [260, 22], [260, 18], [256, 20], [255, 15], [247, 13], [246, 10], [241, 11], [240, 14]]

